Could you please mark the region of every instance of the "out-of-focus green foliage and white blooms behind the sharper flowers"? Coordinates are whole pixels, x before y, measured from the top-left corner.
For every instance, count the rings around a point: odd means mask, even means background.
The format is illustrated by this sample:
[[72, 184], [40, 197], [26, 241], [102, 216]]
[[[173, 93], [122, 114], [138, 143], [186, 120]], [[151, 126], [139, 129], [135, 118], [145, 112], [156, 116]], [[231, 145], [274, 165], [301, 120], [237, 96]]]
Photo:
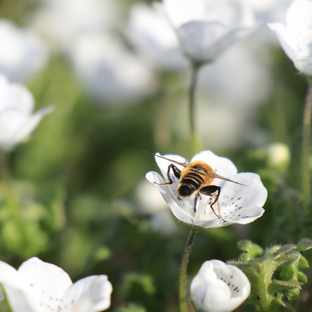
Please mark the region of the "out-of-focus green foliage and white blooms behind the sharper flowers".
[[[201, 230], [189, 280], [206, 260], [237, 258], [241, 239], [265, 248], [312, 236], [300, 193], [307, 84], [266, 27], [284, 21], [290, 1], [246, 1], [259, 27], [201, 69], [196, 125], [205, 149], [260, 174], [266, 212], [249, 225]], [[17, 268], [38, 256], [73, 281], [107, 274], [108, 311], [178, 311], [190, 228], [145, 180], [158, 168], [142, 152], [193, 156], [190, 64], [168, 21], [150, 1], [132, 0], [1, 0], [0, 17], [0, 73], [31, 90], [36, 110], [55, 107], [9, 155], [20, 215], [8, 212], [0, 184], [0, 259]], [[298, 311], [312, 309], [309, 289]], [[0, 311], [10, 311], [5, 300]]]

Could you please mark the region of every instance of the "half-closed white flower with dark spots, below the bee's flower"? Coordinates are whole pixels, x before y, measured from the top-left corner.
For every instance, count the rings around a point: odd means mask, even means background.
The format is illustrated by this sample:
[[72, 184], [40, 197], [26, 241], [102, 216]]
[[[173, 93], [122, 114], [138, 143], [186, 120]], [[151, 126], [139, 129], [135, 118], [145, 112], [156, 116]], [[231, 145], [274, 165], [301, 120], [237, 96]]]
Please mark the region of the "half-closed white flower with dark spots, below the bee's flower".
[[249, 296], [247, 276], [220, 260], [205, 261], [191, 283], [191, 298], [203, 312], [231, 312]]

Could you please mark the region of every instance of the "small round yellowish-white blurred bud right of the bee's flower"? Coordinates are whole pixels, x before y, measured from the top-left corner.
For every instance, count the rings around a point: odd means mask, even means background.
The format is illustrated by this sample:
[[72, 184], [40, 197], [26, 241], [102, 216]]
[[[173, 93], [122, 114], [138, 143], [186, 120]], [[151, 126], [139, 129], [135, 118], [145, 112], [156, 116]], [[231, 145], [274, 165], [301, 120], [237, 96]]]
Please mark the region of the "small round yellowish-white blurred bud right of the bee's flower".
[[271, 167], [284, 168], [290, 162], [290, 151], [284, 143], [273, 143], [268, 149], [268, 162]]

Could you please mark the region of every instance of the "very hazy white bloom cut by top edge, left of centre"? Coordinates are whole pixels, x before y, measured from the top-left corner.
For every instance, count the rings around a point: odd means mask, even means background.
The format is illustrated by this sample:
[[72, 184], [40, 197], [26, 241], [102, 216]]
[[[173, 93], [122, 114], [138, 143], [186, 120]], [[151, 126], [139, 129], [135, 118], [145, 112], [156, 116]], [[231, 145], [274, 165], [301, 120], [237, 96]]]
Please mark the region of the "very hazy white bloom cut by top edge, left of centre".
[[52, 46], [67, 51], [81, 34], [106, 30], [116, 20], [113, 0], [41, 0], [33, 25]]

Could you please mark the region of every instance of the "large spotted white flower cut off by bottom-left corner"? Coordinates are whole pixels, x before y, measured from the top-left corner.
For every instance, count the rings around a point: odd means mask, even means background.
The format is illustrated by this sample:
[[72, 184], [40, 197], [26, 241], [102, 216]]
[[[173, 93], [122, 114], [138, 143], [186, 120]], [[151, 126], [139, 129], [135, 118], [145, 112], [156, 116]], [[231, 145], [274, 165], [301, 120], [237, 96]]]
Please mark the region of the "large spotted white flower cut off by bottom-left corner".
[[33, 257], [15, 270], [0, 261], [0, 283], [14, 312], [99, 312], [110, 307], [107, 275], [72, 283], [60, 267]]

